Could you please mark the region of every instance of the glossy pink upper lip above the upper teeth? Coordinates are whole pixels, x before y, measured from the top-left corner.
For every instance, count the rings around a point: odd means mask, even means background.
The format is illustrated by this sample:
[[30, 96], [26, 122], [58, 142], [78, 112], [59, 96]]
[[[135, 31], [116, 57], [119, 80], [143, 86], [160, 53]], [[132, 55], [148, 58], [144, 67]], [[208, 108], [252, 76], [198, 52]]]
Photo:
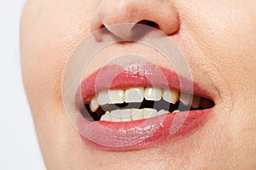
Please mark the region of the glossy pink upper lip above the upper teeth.
[[[182, 84], [182, 86], [181, 86]], [[202, 89], [199, 84], [189, 78], [177, 75], [164, 67], [151, 63], [134, 63], [130, 65], [107, 65], [84, 79], [79, 87], [84, 103], [89, 103], [91, 97], [104, 89], [131, 87], [172, 88], [179, 92], [194, 94], [212, 99], [212, 94]]]

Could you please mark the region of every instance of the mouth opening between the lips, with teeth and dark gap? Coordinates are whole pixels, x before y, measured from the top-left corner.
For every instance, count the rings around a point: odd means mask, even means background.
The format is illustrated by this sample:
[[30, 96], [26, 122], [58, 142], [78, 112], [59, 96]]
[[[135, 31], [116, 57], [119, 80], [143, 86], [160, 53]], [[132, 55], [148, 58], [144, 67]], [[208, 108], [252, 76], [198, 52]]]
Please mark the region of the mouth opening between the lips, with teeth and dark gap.
[[181, 111], [210, 109], [214, 103], [174, 89], [135, 87], [102, 90], [84, 105], [90, 114], [84, 117], [89, 121], [131, 122]]

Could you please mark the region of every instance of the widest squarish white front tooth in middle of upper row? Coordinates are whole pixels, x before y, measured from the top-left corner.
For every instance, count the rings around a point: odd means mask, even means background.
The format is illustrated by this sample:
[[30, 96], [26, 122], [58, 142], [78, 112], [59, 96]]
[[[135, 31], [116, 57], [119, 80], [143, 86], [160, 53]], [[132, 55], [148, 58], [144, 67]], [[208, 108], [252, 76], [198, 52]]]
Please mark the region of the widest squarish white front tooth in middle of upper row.
[[142, 102], [144, 98], [144, 88], [129, 88], [125, 90], [125, 102]]

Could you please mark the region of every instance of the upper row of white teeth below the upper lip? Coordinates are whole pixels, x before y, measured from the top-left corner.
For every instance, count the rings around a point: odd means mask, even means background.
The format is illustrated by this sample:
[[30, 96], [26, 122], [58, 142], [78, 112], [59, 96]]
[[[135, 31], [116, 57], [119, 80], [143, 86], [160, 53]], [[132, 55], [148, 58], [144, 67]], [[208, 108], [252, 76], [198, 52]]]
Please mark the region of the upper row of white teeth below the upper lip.
[[176, 90], [167, 88], [138, 87], [102, 90], [90, 100], [90, 110], [94, 112], [99, 108], [100, 105], [106, 104], [142, 102], [144, 98], [155, 101], [164, 99], [172, 104], [176, 104], [179, 99], [184, 105], [191, 105], [192, 100], [193, 108], [198, 108], [201, 106], [200, 96], [193, 96], [192, 94], [183, 93], [180, 94]]

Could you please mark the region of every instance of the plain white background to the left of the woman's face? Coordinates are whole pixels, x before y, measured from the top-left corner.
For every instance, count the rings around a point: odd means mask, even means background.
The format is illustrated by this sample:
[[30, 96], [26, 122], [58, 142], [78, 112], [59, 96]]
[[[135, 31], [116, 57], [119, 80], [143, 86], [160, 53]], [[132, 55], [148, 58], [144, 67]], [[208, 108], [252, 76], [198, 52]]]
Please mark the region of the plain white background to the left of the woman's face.
[[20, 73], [19, 25], [25, 0], [0, 0], [0, 169], [43, 170]]

